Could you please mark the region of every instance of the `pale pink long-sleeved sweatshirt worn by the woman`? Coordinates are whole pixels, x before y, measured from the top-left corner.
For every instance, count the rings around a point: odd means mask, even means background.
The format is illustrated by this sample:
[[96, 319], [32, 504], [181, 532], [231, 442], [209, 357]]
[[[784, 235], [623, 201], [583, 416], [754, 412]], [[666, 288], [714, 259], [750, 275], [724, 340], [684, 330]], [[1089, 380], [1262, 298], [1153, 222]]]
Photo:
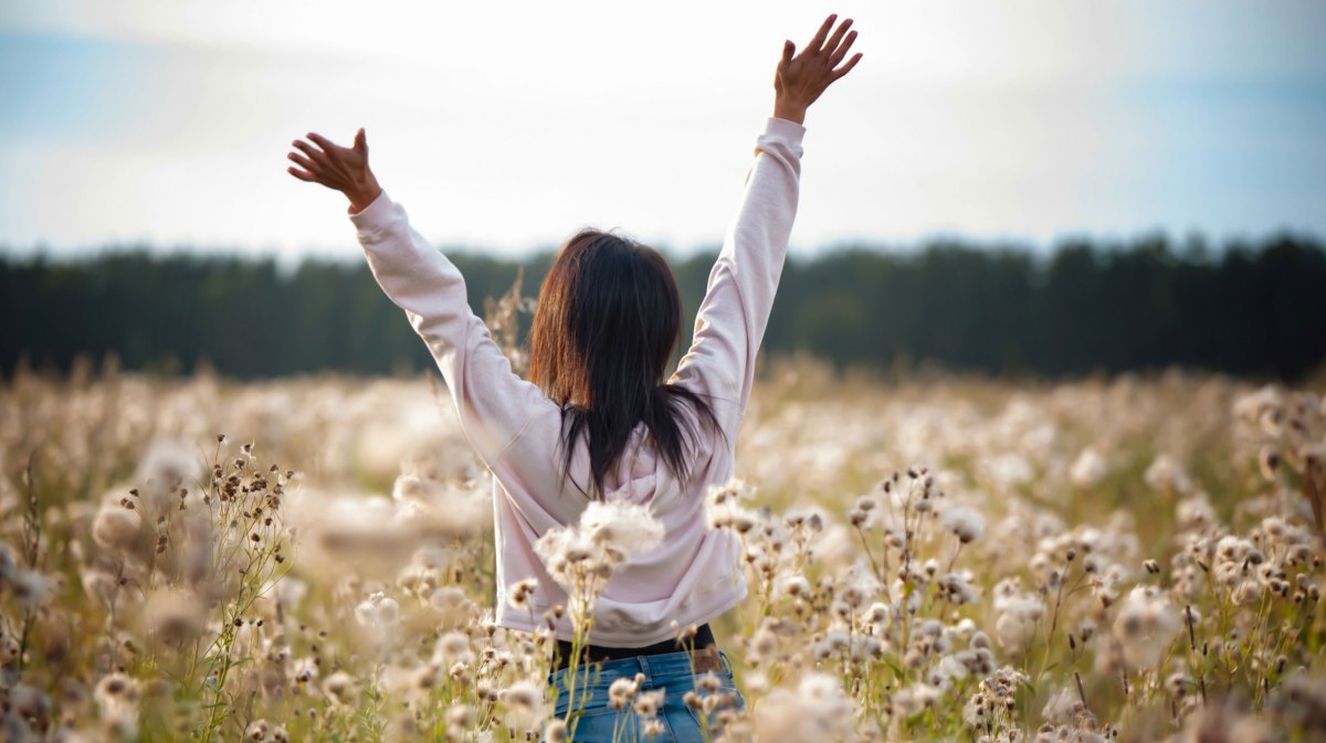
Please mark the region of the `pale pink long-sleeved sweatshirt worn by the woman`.
[[[745, 195], [709, 273], [695, 339], [668, 380], [711, 401], [725, 440], [697, 426], [711, 438], [700, 442], [690, 479], [679, 482], [640, 424], [617, 471], [605, 478], [607, 501], [647, 505], [666, 532], [659, 547], [634, 555], [607, 583], [590, 634], [595, 645], [660, 642], [674, 637], [674, 620], [680, 626], [701, 624], [745, 597], [733, 538], [707, 528], [704, 501], [712, 485], [732, 477], [732, 448], [797, 211], [804, 134], [801, 124], [770, 118], [756, 140]], [[572, 477], [562, 485], [561, 409], [511, 371], [483, 319], [471, 311], [460, 272], [411, 229], [404, 209], [386, 193], [350, 220], [373, 275], [428, 346], [465, 436], [493, 473], [497, 624], [532, 630], [548, 608], [566, 604], [534, 542], [550, 528], [579, 522], [589, 501], [572, 481], [589, 481], [585, 444], [577, 442]], [[508, 587], [526, 577], [538, 581], [533, 612], [507, 604]], [[569, 619], [557, 636], [572, 638]]]

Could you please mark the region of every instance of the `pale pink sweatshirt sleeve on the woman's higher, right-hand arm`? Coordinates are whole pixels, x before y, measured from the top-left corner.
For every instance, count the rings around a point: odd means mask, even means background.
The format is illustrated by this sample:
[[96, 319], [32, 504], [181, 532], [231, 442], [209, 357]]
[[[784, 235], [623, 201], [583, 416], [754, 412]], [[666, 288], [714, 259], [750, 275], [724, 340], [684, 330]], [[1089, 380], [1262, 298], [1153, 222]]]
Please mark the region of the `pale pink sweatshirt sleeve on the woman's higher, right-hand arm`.
[[691, 348], [671, 379], [713, 401], [729, 441], [751, 399], [754, 359], [797, 213], [805, 131], [798, 123], [770, 118], [756, 140], [745, 195], [709, 272]]

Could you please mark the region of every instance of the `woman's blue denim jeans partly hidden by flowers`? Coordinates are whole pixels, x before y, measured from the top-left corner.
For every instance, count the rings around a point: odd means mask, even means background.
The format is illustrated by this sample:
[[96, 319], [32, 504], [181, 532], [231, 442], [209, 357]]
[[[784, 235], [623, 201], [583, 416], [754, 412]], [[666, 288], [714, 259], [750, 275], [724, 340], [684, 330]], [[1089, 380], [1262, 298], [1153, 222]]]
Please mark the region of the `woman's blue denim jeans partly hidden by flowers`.
[[[605, 661], [602, 664], [583, 664], [577, 669], [575, 707], [581, 710], [577, 719], [574, 740], [577, 743], [703, 743], [712, 740], [719, 732], [717, 715], [724, 709], [745, 709], [745, 698], [737, 691], [732, 681], [732, 661], [727, 653], [720, 652], [723, 670], [712, 671], [719, 681], [719, 690], [713, 694], [728, 694], [735, 699], [735, 706], [716, 707], [711, 714], [692, 710], [683, 702], [687, 691], [695, 690], [701, 698], [711, 693], [696, 687], [696, 677], [704, 674], [691, 674], [690, 653], [663, 653], [659, 656], [636, 656], [618, 661]], [[566, 718], [568, 705], [568, 669], [558, 670], [549, 678], [557, 687], [557, 717]], [[607, 689], [618, 678], [634, 679], [636, 673], [644, 674], [640, 683], [640, 693], [663, 690], [663, 703], [659, 706], [658, 720], [660, 732], [648, 736], [646, 726], [648, 720], [635, 713], [634, 705], [618, 711], [609, 705]], [[582, 703], [583, 699], [583, 703]], [[703, 720], [703, 722], [701, 722]], [[703, 727], [709, 732], [705, 734]], [[568, 724], [570, 731], [570, 724]]]

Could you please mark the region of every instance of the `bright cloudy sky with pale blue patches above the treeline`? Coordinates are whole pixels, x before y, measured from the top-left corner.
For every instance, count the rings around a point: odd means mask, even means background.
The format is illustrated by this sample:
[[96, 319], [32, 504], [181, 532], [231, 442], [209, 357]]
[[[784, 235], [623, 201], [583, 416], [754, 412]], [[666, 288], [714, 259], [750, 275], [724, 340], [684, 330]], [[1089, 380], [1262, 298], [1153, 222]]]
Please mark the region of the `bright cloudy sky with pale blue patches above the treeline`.
[[439, 245], [712, 246], [782, 41], [853, 17], [794, 250], [1326, 236], [1326, 3], [5, 0], [0, 250], [358, 256], [292, 139], [367, 130]]

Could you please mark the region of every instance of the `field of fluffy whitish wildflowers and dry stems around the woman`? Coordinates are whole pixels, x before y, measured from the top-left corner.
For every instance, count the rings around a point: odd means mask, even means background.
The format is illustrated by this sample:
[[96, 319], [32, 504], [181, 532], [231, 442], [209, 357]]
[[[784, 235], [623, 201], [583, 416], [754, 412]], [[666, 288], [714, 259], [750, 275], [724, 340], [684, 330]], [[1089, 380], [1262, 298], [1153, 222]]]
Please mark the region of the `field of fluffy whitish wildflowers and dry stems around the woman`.
[[[770, 364], [708, 505], [745, 710], [687, 705], [723, 740], [1326, 740], [1307, 388]], [[435, 377], [20, 371], [0, 474], [0, 740], [574, 735], [549, 638], [491, 621], [489, 475]], [[614, 518], [648, 531], [595, 509], [560, 575], [629, 559]]]

